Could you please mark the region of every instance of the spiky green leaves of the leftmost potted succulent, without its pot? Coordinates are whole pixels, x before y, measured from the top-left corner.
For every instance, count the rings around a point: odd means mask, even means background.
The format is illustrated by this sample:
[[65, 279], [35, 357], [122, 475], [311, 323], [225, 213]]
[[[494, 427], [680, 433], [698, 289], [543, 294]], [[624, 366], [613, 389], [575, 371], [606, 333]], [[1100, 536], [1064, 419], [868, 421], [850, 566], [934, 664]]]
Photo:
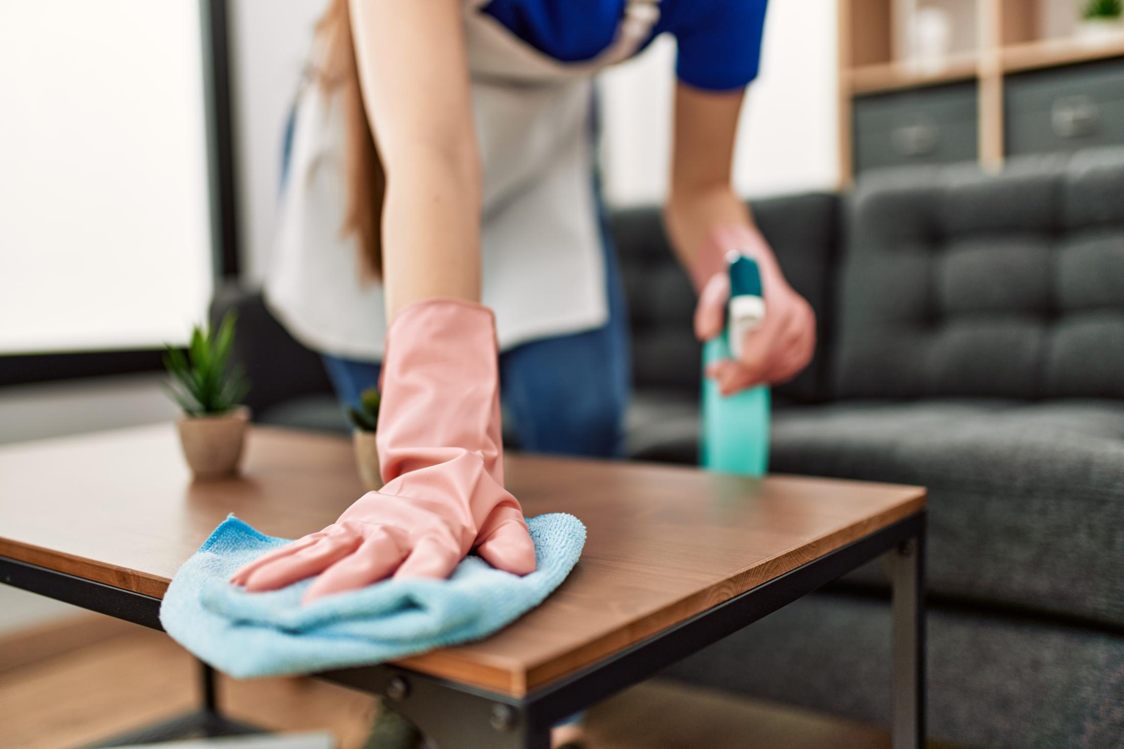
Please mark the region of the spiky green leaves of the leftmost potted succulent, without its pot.
[[166, 347], [164, 367], [172, 375], [167, 390], [189, 417], [227, 413], [250, 391], [241, 366], [227, 369], [236, 321], [237, 316], [227, 312], [217, 331], [194, 326], [187, 350]]

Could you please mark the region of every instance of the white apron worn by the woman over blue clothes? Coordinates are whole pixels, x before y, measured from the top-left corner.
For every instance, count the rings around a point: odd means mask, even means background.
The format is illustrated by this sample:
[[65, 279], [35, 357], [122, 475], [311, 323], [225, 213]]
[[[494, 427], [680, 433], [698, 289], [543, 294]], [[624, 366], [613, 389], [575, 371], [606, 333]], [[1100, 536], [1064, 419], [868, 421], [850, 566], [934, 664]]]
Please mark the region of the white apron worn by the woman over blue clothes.
[[[613, 44], [596, 58], [558, 62], [465, 1], [472, 108], [483, 164], [481, 301], [501, 349], [598, 328], [608, 319], [593, 194], [592, 74], [634, 54], [659, 0], [628, 0]], [[342, 237], [346, 207], [338, 101], [309, 85], [296, 112], [289, 181], [265, 278], [270, 309], [314, 350], [380, 360], [382, 286], [359, 272]]]

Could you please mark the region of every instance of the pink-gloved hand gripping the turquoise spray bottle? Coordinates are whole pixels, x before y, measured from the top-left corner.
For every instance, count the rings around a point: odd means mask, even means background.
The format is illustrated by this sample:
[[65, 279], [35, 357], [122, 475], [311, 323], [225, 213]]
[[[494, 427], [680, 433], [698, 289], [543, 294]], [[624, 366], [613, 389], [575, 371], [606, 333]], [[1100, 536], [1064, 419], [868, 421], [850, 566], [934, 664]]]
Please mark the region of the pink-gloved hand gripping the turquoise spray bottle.
[[812, 305], [781, 275], [764, 237], [752, 227], [718, 227], [699, 248], [695, 278], [699, 291], [695, 335], [709, 340], [722, 334], [729, 301], [725, 256], [740, 252], [758, 262], [764, 291], [765, 318], [750, 331], [737, 359], [722, 359], [706, 369], [723, 395], [761, 384], [788, 382], [808, 366], [816, 349], [816, 316]]

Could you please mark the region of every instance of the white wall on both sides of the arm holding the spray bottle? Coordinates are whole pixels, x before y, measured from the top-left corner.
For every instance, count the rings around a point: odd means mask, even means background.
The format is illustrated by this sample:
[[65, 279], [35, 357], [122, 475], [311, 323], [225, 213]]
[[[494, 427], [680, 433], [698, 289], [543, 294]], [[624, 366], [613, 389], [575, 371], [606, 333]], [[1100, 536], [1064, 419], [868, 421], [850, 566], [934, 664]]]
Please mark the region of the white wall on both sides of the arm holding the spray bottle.
[[[836, 33], [833, 0], [769, 3], [761, 73], [738, 129], [734, 184], [746, 197], [839, 184]], [[601, 76], [602, 163], [614, 204], [667, 194], [676, 47], [658, 39]]]

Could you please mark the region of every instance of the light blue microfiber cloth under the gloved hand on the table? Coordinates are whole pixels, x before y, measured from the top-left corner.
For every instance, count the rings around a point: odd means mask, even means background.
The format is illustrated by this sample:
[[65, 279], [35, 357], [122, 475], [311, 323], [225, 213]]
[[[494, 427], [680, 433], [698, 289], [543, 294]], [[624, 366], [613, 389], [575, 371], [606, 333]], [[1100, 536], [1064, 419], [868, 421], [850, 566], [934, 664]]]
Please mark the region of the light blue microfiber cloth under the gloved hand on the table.
[[302, 606], [311, 578], [270, 593], [227, 582], [289, 542], [230, 515], [175, 573], [160, 621], [201, 660], [239, 678], [374, 664], [478, 640], [542, 603], [581, 555], [586, 527], [573, 515], [540, 515], [528, 526], [538, 566], [525, 577], [469, 556], [448, 579], [388, 579]]

